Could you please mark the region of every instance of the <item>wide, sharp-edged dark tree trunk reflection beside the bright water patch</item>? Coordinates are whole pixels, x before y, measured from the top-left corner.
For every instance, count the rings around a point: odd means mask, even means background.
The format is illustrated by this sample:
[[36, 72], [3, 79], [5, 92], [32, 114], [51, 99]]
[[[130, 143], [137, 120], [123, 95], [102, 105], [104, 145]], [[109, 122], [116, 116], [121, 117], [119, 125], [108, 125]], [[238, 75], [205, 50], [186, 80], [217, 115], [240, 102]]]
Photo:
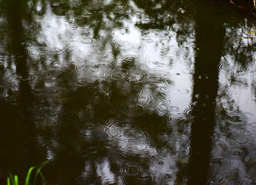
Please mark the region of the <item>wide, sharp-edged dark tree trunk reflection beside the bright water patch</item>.
[[[211, 4], [205, 3], [202, 6], [210, 7]], [[206, 184], [209, 173], [218, 91], [218, 65], [225, 37], [223, 23], [221, 17], [207, 8], [196, 13], [197, 55], [191, 102], [193, 121], [188, 184]]]

